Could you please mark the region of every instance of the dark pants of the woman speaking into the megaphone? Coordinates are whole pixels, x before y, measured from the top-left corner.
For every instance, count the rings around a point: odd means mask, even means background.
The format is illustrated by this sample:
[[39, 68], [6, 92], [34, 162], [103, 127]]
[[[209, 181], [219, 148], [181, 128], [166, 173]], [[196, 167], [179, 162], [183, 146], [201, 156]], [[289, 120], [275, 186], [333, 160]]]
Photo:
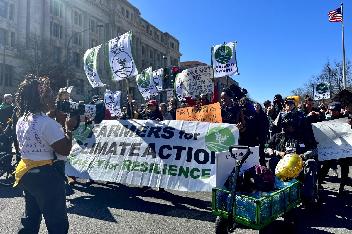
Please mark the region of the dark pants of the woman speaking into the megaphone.
[[25, 200], [18, 234], [38, 233], [42, 214], [49, 234], [68, 233], [65, 182], [54, 165], [32, 168], [18, 185]]

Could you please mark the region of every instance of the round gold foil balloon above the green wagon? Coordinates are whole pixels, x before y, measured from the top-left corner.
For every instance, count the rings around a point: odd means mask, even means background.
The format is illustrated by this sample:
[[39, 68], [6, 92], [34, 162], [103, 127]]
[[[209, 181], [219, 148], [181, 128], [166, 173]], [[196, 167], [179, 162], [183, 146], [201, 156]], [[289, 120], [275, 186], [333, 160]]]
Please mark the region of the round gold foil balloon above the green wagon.
[[303, 161], [298, 154], [286, 154], [277, 163], [275, 175], [277, 179], [283, 182], [294, 180], [300, 174], [303, 166]]

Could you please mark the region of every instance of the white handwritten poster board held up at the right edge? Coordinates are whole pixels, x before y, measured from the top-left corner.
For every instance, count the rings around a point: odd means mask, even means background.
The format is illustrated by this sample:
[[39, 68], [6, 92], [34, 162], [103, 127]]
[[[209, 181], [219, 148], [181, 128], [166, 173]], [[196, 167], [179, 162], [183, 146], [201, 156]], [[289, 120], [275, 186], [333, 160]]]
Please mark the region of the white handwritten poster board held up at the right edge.
[[319, 142], [319, 161], [352, 156], [352, 129], [348, 118], [312, 123], [315, 140]]

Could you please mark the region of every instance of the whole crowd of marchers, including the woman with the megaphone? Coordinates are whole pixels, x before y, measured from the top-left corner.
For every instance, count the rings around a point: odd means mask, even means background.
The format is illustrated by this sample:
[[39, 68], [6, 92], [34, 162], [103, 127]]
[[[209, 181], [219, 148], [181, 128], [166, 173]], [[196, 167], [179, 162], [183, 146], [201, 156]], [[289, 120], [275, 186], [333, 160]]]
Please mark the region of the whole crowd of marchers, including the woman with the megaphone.
[[[69, 180], [67, 179], [64, 165], [72, 146], [73, 128], [77, 121], [84, 122], [88, 119], [84, 116], [80, 120], [75, 116], [68, 118], [66, 114], [57, 111], [55, 101], [70, 100], [70, 95], [66, 90], [60, 90], [55, 98], [49, 86], [49, 78], [27, 75], [14, 95], [17, 106], [13, 104], [14, 98], [11, 94], [4, 95], [0, 106], [0, 146], [12, 144], [9, 139], [13, 138], [15, 151], [22, 158], [16, 169], [15, 185], [18, 184], [24, 190], [26, 205], [18, 233], [38, 233], [42, 214], [50, 233], [58, 233], [58, 227], [62, 233], [67, 233], [68, 230], [64, 183], [66, 181], [73, 185], [76, 178], [69, 176]], [[329, 169], [334, 170], [333, 178], [337, 179], [337, 161], [340, 161], [341, 181], [338, 192], [345, 195], [345, 185], [351, 180], [348, 176], [351, 160], [326, 160], [321, 168], [317, 149], [319, 142], [315, 141], [311, 123], [347, 117], [350, 119], [348, 124], [352, 126], [348, 107], [341, 108], [339, 102], [323, 103], [320, 107], [314, 107], [314, 101], [309, 96], [300, 104], [298, 96], [282, 98], [282, 95], [276, 94], [272, 102], [267, 100], [263, 103], [263, 108], [261, 103], [251, 104], [246, 94], [246, 89], [236, 85], [223, 89], [220, 94], [222, 122], [237, 126], [239, 145], [259, 146], [259, 164], [268, 166], [273, 173], [284, 155], [300, 155], [304, 175], [302, 192], [304, 202], [308, 204], [313, 202], [316, 178], [319, 189], [322, 189]], [[97, 100], [102, 100], [100, 95], [94, 95], [90, 104]], [[188, 106], [198, 109], [219, 102], [216, 86], [211, 100], [208, 94], [201, 94], [196, 101], [187, 97], [183, 103], [178, 103], [176, 98], [171, 98], [169, 103], [149, 100], [141, 104], [139, 109], [138, 102], [132, 100], [130, 95], [127, 95], [127, 101], [130, 105], [122, 108], [122, 116], [114, 118], [106, 109], [104, 120], [176, 120], [177, 108]], [[33, 151], [32, 146], [38, 139], [41, 148]], [[266, 165], [266, 158], [270, 158], [269, 165]], [[39, 179], [43, 177], [46, 179]], [[33, 182], [38, 180], [43, 181], [40, 186]], [[93, 182], [89, 179], [86, 184]], [[141, 192], [150, 189], [151, 187], [144, 186]], [[158, 190], [159, 193], [165, 192], [163, 188]]]

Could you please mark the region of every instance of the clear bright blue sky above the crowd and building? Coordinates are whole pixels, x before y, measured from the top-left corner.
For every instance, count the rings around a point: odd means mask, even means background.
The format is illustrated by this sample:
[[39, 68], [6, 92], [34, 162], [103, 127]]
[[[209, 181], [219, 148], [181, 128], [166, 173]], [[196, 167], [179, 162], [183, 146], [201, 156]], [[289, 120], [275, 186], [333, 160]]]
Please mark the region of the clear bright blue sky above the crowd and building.
[[[180, 61], [211, 64], [210, 48], [237, 41], [239, 75], [255, 101], [291, 95], [323, 65], [342, 61], [341, 22], [327, 13], [341, 0], [130, 0], [142, 18], [180, 41]], [[345, 56], [352, 52], [352, 2], [343, 5]]]

